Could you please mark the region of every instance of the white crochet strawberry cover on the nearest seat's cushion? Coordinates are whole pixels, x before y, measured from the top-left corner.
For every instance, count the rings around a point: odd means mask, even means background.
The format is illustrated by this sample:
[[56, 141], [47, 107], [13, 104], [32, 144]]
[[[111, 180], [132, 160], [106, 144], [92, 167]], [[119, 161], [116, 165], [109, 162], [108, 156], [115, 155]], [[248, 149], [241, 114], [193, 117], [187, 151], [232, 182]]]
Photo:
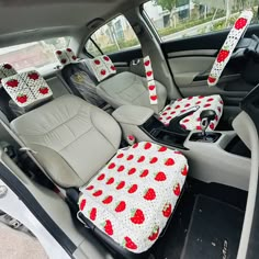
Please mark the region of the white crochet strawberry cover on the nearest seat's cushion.
[[122, 247], [143, 252], [173, 212], [188, 168], [180, 151], [153, 143], [120, 149], [80, 188], [80, 212]]

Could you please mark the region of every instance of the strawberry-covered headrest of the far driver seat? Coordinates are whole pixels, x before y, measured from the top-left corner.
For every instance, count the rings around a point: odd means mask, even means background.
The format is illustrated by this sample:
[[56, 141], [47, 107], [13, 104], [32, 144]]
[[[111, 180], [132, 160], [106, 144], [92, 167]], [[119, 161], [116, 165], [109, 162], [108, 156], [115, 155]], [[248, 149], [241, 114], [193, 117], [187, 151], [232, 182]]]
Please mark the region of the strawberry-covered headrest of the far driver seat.
[[111, 58], [106, 55], [95, 57], [90, 60], [90, 66], [97, 80], [100, 82], [111, 75], [116, 74], [116, 68]]

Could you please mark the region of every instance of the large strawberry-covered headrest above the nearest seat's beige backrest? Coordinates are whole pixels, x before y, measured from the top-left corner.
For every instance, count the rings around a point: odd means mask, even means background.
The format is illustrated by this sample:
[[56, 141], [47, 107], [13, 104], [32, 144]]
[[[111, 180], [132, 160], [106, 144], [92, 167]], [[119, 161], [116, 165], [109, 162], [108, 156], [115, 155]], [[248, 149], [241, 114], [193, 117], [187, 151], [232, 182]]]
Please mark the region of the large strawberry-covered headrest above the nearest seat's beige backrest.
[[31, 108], [53, 95], [44, 78], [35, 70], [3, 78], [2, 86], [20, 108]]

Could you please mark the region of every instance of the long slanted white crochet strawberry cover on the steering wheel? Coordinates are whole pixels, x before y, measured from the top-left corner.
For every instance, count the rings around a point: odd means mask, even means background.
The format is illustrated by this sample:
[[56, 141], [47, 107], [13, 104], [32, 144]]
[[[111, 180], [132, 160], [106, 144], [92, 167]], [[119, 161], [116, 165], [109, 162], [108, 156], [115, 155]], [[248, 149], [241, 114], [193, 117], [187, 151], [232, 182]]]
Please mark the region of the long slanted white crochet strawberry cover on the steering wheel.
[[237, 43], [241, 40], [252, 19], [252, 11], [243, 11], [227, 35], [207, 78], [209, 87], [215, 86], [229, 61]]

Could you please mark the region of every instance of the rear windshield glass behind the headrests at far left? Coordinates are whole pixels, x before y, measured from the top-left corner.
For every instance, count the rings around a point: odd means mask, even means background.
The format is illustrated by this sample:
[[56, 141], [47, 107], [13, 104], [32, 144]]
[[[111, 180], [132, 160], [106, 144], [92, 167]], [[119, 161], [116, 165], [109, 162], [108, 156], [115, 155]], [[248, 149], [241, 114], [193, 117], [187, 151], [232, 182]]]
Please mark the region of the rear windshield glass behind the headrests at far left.
[[58, 60], [55, 50], [68, 47], [70, 37], [55, 37], [40, 42], [0, 48], [0, 64], [10, 63], [18, 71], [52, 70]]

